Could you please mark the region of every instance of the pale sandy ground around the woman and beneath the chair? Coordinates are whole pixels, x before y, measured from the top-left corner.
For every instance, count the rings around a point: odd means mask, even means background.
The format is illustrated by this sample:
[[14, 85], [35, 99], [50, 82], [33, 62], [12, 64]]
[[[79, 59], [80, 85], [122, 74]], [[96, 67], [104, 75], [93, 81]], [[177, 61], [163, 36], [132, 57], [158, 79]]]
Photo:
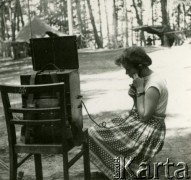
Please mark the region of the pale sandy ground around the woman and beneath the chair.
[[[191, 44], [164, 48], [164, 50], [152, 52], [149, 55], [153, 59], [151, 69], [166, 78], [169, 89], [166, 141], [163, 150], [153, 162], [165, 163], [169, 158], [170, 162], [174, 163], [174, 167], [170, 169], [172, 176], [178, 168], [178, 162], [185, 162], [188, 166], [188, 173], [191, 175], [191, 76], [189, 76], [191, 74]], [[131, 108], [132, 100], [127, 93], [131, 80], [125, 75], [123, 69], [118, 68], [115, 71], [99, 74], [82, 74], [80, 79], [84, 101], [97, 122], [121, 115]], [[14, 79], [13, 81], [15, 82]], [[89, 127], [92, 122], [85, 111], [83, 114], [84, 126]], [[1, 118], [2, 116], [1, 113]], [[5, 128], [3, 123], [1, 123], [2, 128]], [[8, 163], [7, 141], [0, 141], [0, 147], [0, 159]], [[70, 155], [75, 152], [76, 150], [72, 151]], [[72, 167], [71, 179], [83, 179], [82, 164], [83, 161], [80, 160]], [[34, 179], [32, 160], [20, 169], [24, 171], [25, 179]], [[43, 169], [44, 179], [62, 179], [61, 156], [44, 156]], [[91, 172], [96, 171], [99, 170], [91, 164]], [[8, 180], [8, 171], [1, 165], [0, 179]], [[93, 174], [93, 179], [104, 180], [106, 178]], [[166, 179], [164, 169], [161, 169], [160, 179]]]

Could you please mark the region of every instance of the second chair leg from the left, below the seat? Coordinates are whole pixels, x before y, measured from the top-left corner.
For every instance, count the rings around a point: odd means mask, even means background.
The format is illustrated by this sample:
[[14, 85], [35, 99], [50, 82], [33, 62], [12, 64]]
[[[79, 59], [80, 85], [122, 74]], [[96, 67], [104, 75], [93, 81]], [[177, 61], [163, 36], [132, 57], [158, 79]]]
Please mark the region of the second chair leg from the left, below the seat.
[[43, 180], [41, 154], [34, 154], [36, 179]]

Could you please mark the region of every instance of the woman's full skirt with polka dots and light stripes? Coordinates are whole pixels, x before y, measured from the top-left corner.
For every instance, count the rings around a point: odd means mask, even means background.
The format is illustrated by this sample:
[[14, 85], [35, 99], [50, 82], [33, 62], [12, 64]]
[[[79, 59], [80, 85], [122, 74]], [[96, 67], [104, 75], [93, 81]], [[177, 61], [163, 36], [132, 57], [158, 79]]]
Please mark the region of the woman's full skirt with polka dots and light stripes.
[[107, 128], [90, 127], [91, 162], [109, 179], [113, 179], [116, 158], [131, 158], [134, 164], [151, 160], [164, 144], [164, 119], [163, 116], [153, 116], [149, 121], [142, 122], [134, 110], [126, 120], [114, 118], [107, 122]]

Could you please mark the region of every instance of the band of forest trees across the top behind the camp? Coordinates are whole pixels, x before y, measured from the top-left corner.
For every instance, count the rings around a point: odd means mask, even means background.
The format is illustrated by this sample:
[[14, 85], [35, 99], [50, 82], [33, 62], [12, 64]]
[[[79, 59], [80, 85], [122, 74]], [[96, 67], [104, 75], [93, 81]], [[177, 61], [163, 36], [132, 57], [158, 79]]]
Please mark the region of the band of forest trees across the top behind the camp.
[[67, 35], [69, 12], [79, 48], [144, 46], [148, 36], [172, 46], [191, 34], [190, 0], [1, 0], [0, 41], [15, 42], [35, 16]]

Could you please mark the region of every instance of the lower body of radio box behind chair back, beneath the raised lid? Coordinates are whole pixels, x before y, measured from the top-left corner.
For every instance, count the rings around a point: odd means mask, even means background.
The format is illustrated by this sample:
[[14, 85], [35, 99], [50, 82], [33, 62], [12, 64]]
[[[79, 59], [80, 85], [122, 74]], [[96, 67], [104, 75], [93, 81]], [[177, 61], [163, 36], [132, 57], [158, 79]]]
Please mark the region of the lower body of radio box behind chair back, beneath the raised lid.
[[[58, 82], [65, 84], [65, 105], [66, 105], [66, 122], [72, 129], [72, 136], [75, 144], [80, 144], [83, 140], [83, 116], [80, 96], [80, 77], [77, 69], [66, 69], [65, 71], [45, 71], [36, 75], [35, 84], [50, 84], [52, 79], [51, 73], [56, 73]], [[31, 74], [20, 76], [21, 85], [30, 85]], [[51, 92], [50, 92], [51, 94]], [[50, 98], [51, 99], [51, 98]], [[23, 96], [23, 106], [26, 106], [26, 97]], [[67, 124], [67, 123], [66, 123]], [[48, 141], [48, 139], [47, 139]]]

